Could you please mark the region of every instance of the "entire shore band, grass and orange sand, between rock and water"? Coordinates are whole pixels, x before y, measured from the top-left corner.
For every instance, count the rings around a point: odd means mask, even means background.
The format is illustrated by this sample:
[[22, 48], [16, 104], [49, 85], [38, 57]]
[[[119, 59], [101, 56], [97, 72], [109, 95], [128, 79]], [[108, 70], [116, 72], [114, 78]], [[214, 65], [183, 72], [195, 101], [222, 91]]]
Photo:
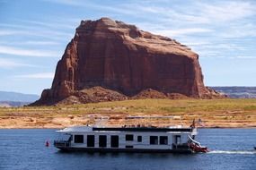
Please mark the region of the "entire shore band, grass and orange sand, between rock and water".
[[[128, 120], [130, 115], [174, 115], [180, 119]], [[41, 106], [0, 108], [0, 129], [64, 128], [74, 125], [101, 123], [95, 117], [107, 116], [106, 126], [142, 124], [190, 126], [193, 119], [201, 120], [207, 128], [256, 128], [256, 99], [254, 100], [168, 100], [142, 99], [104, 102], [79, 106]]]

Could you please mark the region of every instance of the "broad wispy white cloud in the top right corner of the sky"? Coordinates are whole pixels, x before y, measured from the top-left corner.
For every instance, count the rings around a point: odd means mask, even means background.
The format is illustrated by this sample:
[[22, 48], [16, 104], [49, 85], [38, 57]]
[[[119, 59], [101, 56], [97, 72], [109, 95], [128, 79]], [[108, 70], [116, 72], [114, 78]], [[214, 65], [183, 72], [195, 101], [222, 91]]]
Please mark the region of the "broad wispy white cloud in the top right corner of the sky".
[[191, 5], [181, 6], [147, 6], [126, 5], [128, 8], [136, 8], [136, 13], [152, 13], [161, 16], [164, 21], [177, 24], [226, 24], [226, 22], [238, 21], [255, 15], [256, 7], [253, 2], [243, 1], [217, 1], [212, 3], [195, 2]]

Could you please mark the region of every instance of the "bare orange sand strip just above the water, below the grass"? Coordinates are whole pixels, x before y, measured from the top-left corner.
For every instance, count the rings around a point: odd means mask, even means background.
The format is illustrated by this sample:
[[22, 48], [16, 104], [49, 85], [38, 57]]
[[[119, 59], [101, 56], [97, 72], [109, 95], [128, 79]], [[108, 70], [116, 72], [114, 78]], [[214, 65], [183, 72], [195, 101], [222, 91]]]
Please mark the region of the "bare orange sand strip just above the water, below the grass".
[[[73, 116], [71, 116], [73, 117]], [[113, 117], [112, 117], [113, 118]], [[115, 119], [115, 118], [113, 118]], [[119, 126], [124, 124], [143, 124], [143, 125], [154, 125], [154, 126], [167, 126], [168, 123], [127, 123], [127, 121], [122, 120], [109, 120], [110, 123], [104, 123], [105, 126]], [[74, 116], [74, 118], [69, 117], [31, 117], [31, 116], [22, 116], [22, 117], [0, 117], [0, 129], [31, 129], [31, 128], [65, 128], [69, 126], [75, 125], [86, 125], [86, 124], [94, 124], [94, 121], [89, 121], [81, 116]], [[140, 121], [141, 122], [141, 121]], [[205, 128], [256, 128], [256, 123], [248, 122], [248, 121], [203, 121], [204, 125], [198, 124], [198, 127]], [[182, 123], [175, 122], [172, 123], [175, 125], [182, 124], [183, 126], [190, 126], [190, 122], [188, 120], [183, 121]]]

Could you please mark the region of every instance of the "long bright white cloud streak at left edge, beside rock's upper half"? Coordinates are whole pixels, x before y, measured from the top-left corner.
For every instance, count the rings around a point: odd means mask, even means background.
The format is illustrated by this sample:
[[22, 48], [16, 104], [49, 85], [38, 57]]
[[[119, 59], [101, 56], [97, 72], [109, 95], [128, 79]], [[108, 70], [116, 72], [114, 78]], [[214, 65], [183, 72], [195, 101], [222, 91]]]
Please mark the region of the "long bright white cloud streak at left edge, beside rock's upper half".
[[0, 54], [22, 55], [22, 56], [48, 56], [48, 57], [60, 56], [60, 54], [55, 51], [23, 49], [23, 48], [7, 47], [7, 46], [0, 46]]

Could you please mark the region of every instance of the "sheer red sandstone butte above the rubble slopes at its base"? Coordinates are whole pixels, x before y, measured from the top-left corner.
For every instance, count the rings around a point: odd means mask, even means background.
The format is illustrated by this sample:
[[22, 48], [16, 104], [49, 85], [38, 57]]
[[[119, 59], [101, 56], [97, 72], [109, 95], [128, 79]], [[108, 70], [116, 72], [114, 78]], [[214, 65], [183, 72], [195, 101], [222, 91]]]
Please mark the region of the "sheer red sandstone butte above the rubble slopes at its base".
[[204, 86], [199, 55], [189, 47], [109, 18], [81, 21], [57, 63], [51, 89], [34, 105], [81, 98], [79, 91], [96, 86], [127, 97], [145, 89], [191, 98], [213, 94]]

